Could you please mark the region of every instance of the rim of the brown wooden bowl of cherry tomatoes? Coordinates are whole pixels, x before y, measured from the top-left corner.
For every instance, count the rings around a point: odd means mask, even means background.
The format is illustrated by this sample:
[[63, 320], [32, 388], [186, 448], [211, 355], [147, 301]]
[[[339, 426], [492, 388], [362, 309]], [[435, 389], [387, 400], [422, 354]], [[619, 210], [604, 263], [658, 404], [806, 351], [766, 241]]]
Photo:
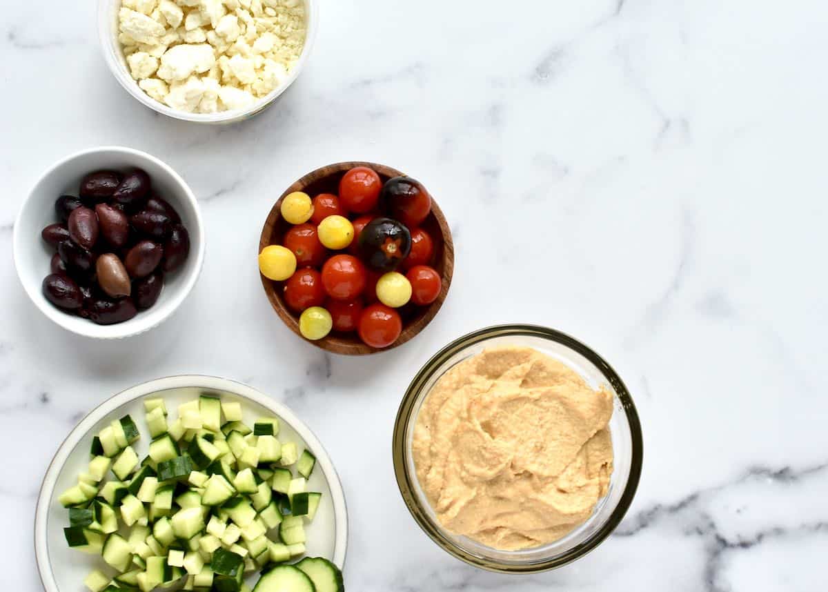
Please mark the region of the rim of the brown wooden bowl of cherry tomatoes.
[[[293, 193], [294, 191], [303, 191], [311, 183], [324, 179], [328, 176], [338, 175], [339, 173], [342, 173], [344, 171], [349, 171], [350, 169], [354, 168], [354, 166], [368, 166], [368, 168], [377, 171], [379, 175], [388, 177], [407, 176], [402, 171], [397, 171], [397, 169], [394, 169], [391, 166], [381, 165], [376, 162], [368, 161], [335, 162], [334, 164], [320, 166], [319, 168], [310, 171], [306, 175], [301, 176], [298, 180], [292, 183], [286, 190], [284, 190], [282, 192], [282, 195], [280, 195], [279, 198], [276, 200], [276, 203], [273, 204], [272, 208], [270, 209], [270, 212], [267, 214], [267, 219], [265, 219], [264, 225], [262, 226], [262, 233], [259, 237], [258, 253], [261, 253], [263, 248], [272, 244], [270, 242], [270, 238], [272, 236], [274, 227], [276, 227], [279, 220], [282, 219], [280, 205], [282, 204], [282, 200], [285, 198], [286, 195]], [[431, 191], [429, 193], [431, 195], [430, 215], [434, 215], [443, 238], [443, 272], [441, 276], [443, 286], [440, 290], [440, 296], [437, 296], [436, 301], [432, 302], [431, 305], [428, 306], [428, 310], [426, 310], [426, 313], [424, 315], [421, 315], [410, 325], [403, 325], [402, 333], [394, 343], [389, 345], [387, 348], [377, 349], [372, 348], [367, 344], [363, 344], [362, 342], [354, 341], [353, 339], [346, 339], [344, 337], [340, 337], [339, 335], [336, 335], [334, 333], [331, 333], [330, 335], [322, 339], [317, 339], [315, 341], [306, 339], [299, 330], [299, 320], [293, 315], [291, 310], [287, 309], [286, 304], [284, 303], [284, 301], [282, 301], [282, 298], [277, 294], [278, 291], [276, 289], [275, 283], [272, 280], [267, 279], [267, 277], [262, 276], [262, 274], [260, 273], [259, 277], [261, 277], [262, 279], [262, 287], [264, 288], [265, 294], [267, 295], [267, 300], [270, 301], [273, 310], [276, 311], [277, 315], [279, 315], [279, 318], [282, 319], [282, 322], [284, 322], [285, 325], [287, 325], [287, 327], [296, 335], [298, 335], [300, 339], [302, 339], [303, 341], [306, 341], [310, 344], [314, 344], [316, 347], [324, 349], [325, 351], [329, 351], [334, 354], [344, 355], [378, 354], [381, 352], [388, 351], [389, 349], [394, 349], [402, 344], [405, 344], [410, 339], [413, 339], [416, 335], [419, 335], [421, 330], [426, 328], [426, 325], [428, 325], [431, 322], [431, 320], [434, 319], [434, 317], [437, 315], [437, 312], [439, 312], [440, 308], [443, 306], [443, 302], [445, 302], [445, 298], [446, 296], [448, 296], [449, 287], [451, 285], [451, 278], [454, 275], [455, 264], [455, 249], [454, 242], [451, 238], [451, 229], [449, 228], [449, 224], [445, 219], [443, 211], [440, 209], [440, 206], [437, 205], [434, 195], [431, 194]]]

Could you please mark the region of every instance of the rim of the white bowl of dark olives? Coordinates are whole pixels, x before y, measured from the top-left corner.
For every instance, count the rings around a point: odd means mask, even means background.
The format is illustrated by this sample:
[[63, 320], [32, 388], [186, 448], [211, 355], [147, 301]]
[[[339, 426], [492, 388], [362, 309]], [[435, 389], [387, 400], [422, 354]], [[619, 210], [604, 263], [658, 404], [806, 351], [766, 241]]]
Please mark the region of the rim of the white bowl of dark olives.
[[[92, 327], [98, 328], [97, 331], [80, 331], [76, 330], [74, 325], [67, 325], [63, 322], [65, 312], [56, 309], [54, 306], [51, 306], [48, 302], [41, 301], [38, 297], [38, 294], [33, 286], [29, 286], [26, 282], [23, 281], [22, 269], [26, 265], [26, 262], [23, 262], [22, 257], [22, 247], [18, 245], [23, 240], [29, 240], [30, 238], [24, 238], [21, 234], [21, 223], [23, 212], [26, 209], [26, 204], [29, 200], [31, 200], [31, 196], [34, 195], [34, 192], [38, 185], [41, 184], [46, 177], [53, 174], [60, 166], [64, 166], [66, 163], [75, 160], [76, 158], [80, 158], [82, 156], [89, 156], [90, 154], [96, 154], [99, 152], [118, 152], [120, 154], [125, 154], [128, 156], [137, 156], [138, 158], [144, 158], [148, 161], [152, 161], [156, 166], [161, 167], [166, 171], [173, 180], [175, 180], [176, 184], [181, 186], [181, 190], [183, 190], [186, 199], [190, 201], [193, 206], [193, 212], [195, 214], [195, 226], [198, 229], [198, 236], [200, 237], [200, 241], [197, 245], [195, 245], [195, 249], [193, 249], [193, 245], [190, 245], [190, 257], [194, 255], [193, 251], [195, 251], [195, 267], [193, 267], [193, 271], [190, 272], [190, 276], [185, 278], [185, 282], [182, 284], [181, 289], [173, 296], [172, 300], [170, 301], [169, 308], [165, 315], [161, 315], [156, 322], [142, 326], [140, 324], [140, 319], [136, 320], [135, 318], [124, 321], [123, 323], [118, 323], [117, 325], [94, 325], [91, 324], [90, 321], [90, 329]], [[192, 234], [192, 233], [190, 233]], [[205, 262], [205, 231], [204, 231], [204, 222], [201, 218], [201, 209], [199, 206], [198, 200], [195, 199], [195, 194], [190, 189], [190, 185], [187, 185], [186, 181], [179, 175], [170, 165], [166, 164], [166, 162], [161, 161], [160, 158], [157, 156], [152, 156], [147, 152], [143, 152], [141, 150], [137, 150], [135, 148], [125, 147], [125, 146], [97, 146], [91, 148], [84, 148], [84, 150], [80, 150], [78, 152], [73, 152], [68, 156], [64, 156], [60, 160], [53, 163], [49, 168], [46, 169], [41, 176], [37, 177], [37, 180], [31, 185], [28, 194], [26, 194], [26, 200], [23, 200], [23, 203], [20, 205], [20, 209], [17, 210], [17, 217], [14, 220], [14, 228], [12, 230], [12, 251], [14, 257], [14, 267], [15, 271], [17, 272], [17, 278], [20, 280], [20, 283], [23, 286], [23, 289], [26, 291], [26, 295], [29, 296], [29, 299], [34, 303], [38, 310], [40, 310], [47, 318], [55, 322], [56, 325], [60, 325], [67, 331], [71, 331], [75, 333], [75, 335], [83, 335], [84, 337], [91, 337], [93, 339], [123, 339], [125, 337], [131, 337], [132, 335], [139, 335], [144, 333], [148, 330], [154, 329], [158, 325], [161, 325], [165, 320], [170, 318], [170, 316], [178, 310], [178, 307], [181, 306], [181, 303], [185, 301], [186, 297], [190, 295], [190, 291], [192, 291], [193, 287], [195, 286], [195, 282], [198, 281], [201, 270], [204, 267]], [[135, 327], [134, 329], [131, 329]]]

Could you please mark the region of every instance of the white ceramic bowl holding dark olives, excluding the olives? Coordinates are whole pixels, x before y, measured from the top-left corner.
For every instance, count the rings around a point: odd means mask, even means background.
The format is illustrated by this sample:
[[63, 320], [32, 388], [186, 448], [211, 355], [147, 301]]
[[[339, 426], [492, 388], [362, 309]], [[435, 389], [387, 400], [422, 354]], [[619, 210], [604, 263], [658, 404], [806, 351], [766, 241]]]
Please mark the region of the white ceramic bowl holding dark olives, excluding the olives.
[[[152, 187], [181, 215], [190, 233], [190, 256], [176, 272], [166, 274], [164, 288], [155, 306], [138, 312], [118, 325], [95, 325], [89, 319], [59, 310], [41, 291], [43, 278], [50, 273], [54, 250], [43, 242], [41, 230], [55, 219], [55, 200], [64, 194], [78, 195], [84, 175], [100, 169], [126, 170], [139, 167], [147, 171]], [[98, 339], [122, 339], [152, 329], [166, 320], [190, 294], [201, 272], [205, 257], [204, 229], [195, 195], [170, 166], [146, 152], [124, 147], [98, 147], [77, 152], [56, 162], [43, 173], [23, 202], [14, 224], [14, 264], [26, 293], [41, 312], [66, 330]]]

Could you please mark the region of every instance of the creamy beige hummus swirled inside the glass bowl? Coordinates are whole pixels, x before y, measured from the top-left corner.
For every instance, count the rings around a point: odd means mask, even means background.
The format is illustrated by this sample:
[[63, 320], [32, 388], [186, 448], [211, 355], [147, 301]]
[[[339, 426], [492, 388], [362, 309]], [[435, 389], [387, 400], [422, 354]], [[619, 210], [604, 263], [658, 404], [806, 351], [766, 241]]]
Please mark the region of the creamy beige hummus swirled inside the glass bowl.
[[416, 475], [440, 524], [515, 551], [566, 536], [609, 487], [612, 395], [535, 349], [451, 368], [414, 427]]

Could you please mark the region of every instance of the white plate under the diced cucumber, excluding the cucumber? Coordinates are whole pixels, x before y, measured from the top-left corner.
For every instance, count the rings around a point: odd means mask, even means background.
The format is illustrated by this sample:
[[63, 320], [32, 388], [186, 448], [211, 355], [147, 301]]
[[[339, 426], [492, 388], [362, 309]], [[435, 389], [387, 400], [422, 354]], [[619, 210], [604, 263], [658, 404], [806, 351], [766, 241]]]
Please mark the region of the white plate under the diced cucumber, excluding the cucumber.
[[[69, 517], [57, 501], [60, 493], [74, 485], [78, 474], [86, 470], [92, 437], [113, 419], [130, 414], [141, 431], [141, 439], [133, 447], [143, 458], [147, 455], [149, 443], [143, 399], [164, 397], [167, 409], [174, 415], [179, 404], [192, 400], [200, 392], [210, 392], [223, 400], [242, 403], [244, 421], [248, 424], [258, 416], [277, 416], [280, 420], [280, 440], [294, 441], [316, 456], [308, 489], [322, 493], [322, 499], [313, 522], [306, 527], [307, 556], [325, 557], [340, 569], [344, 566], [348, 517], [342, 484], [330, 457], [308, 427], [282, 403], [242, 383], [209, 376], [174, 376], [139, 384], [103, 402], [85, 416], [60, 445], [43, 478], [35, 512], [35, 556], [46, 592], [81, 590], [89, 571], [103, 565], [99, 556], [87, 555], [66, 546], [63, 529], [69, 526]], [[253, 574], [248, 578], [248, 585], [252, 587], [256, 577]]]

